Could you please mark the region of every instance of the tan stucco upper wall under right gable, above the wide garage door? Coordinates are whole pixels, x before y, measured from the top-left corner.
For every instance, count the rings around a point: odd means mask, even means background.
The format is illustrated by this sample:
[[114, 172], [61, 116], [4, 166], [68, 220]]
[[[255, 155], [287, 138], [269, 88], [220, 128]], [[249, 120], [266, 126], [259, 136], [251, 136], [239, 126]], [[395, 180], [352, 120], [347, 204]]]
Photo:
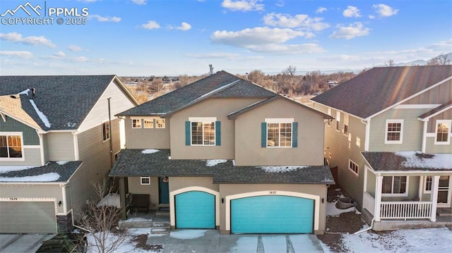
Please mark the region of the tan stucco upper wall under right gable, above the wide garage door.
[[[266, 118], [293, 118], [298, 147], [261, 147]], [[237, 166], [323, 165], [323, 116], [287, 99], [275, 99], [235, 119]], [[265, 133], [266, 134], [266, 133]]]

